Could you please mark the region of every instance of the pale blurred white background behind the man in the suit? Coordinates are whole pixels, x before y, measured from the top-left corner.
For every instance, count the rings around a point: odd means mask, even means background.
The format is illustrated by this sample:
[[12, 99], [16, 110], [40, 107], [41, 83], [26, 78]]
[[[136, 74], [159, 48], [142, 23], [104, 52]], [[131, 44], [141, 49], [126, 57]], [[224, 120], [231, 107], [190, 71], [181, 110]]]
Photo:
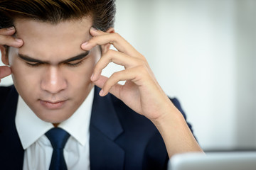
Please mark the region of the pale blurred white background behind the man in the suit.
[[206, 151], [256, 149], [255, 16], [255, 0], [117, 0], [116, 32], [178, 98]]

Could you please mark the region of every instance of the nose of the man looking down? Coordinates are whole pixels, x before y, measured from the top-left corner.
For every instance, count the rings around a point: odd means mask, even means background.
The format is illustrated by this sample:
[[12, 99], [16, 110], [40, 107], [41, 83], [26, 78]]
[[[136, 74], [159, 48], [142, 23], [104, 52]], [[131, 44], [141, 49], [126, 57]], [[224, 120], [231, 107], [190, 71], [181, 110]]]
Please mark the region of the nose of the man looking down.
[[67, 88], [68, 83], [58, 67], [48, 67], [41, 80], [41, 89], [50, 94], [58, 94]]

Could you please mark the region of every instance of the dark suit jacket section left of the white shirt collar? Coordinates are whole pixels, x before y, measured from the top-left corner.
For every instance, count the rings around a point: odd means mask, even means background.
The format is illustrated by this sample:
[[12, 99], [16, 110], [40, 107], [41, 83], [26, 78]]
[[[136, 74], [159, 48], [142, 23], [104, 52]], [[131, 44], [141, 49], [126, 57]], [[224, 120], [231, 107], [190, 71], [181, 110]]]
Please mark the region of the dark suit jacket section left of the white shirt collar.
[[23, 166], [23, 148], [15, 126], [17, 101], [14, 85], [0, 86], [0, 160], [3, 169], [21, 169]]

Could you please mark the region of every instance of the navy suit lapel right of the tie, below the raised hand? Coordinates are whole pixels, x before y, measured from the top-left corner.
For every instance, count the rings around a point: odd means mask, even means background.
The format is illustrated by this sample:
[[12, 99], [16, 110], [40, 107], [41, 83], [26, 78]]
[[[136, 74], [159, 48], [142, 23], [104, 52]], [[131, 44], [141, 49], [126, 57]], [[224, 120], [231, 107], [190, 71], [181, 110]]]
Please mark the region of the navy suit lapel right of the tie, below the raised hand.
[[95, 86], [90, 120], [91, 169], [123, 169], [124, 150], [114, 140], [123, 132], [111, 96], [100, 97]]

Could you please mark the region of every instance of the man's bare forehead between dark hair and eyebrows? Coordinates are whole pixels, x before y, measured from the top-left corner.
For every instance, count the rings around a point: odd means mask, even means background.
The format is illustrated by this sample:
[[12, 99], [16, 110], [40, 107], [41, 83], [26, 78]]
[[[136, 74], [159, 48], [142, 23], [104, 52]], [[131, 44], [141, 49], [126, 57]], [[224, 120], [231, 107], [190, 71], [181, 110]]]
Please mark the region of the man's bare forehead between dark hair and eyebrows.
[[57, 56], [68, 57], [82, 52], [80, 45], [90, 39], [92, 20], [84, 17], [79, 20], [62, 21], [57, 24], [18, 18], [14, 21], [16, 37], [23, 46], [19, 53], [43, 57], [45, 60]]

